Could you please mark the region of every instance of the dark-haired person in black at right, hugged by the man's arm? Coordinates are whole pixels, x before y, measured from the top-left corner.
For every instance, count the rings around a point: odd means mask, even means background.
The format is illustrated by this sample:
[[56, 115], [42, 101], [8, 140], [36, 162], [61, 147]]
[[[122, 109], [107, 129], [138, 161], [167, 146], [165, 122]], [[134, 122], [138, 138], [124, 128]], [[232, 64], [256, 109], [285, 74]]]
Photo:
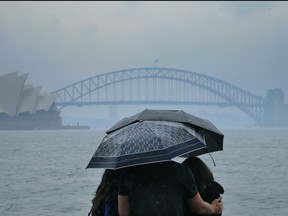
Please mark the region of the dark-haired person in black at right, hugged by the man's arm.
[[[198, 157], [189, 157], [182, 164], [187, 165], [195, 178], [195, 182], [202, 199], [211, 203], [214, 199], [221, 198], [224, 188], [214, 180], [213, 173], [209, 167]], [[191, 215], [188, 213], [188, 215]], [[194, 213], [193, 215], [197, 215]], [[213, 214], [221, 216], [222, 214]]]

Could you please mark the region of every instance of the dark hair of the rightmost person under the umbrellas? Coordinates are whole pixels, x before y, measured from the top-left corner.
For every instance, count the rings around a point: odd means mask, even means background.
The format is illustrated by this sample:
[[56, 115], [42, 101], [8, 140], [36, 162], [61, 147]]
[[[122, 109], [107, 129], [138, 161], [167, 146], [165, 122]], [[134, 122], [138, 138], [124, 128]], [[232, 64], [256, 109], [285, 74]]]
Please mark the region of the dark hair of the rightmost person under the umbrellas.
[[214, 180], [209, 167], [198, 157], [189, 157], [182, 164], [188, 166], [193, 172], [199, 193], [205, 194], [207, 184]]

